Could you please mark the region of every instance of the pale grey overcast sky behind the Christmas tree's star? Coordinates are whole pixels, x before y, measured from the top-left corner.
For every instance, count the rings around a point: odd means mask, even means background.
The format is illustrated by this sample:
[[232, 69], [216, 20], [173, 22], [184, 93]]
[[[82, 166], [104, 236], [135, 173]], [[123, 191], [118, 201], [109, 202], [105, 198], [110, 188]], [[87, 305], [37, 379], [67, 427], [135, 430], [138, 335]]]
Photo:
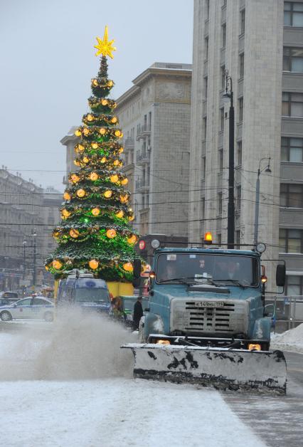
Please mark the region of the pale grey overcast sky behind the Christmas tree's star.
[[193, 0], [0, 1], [0, 167], [63, 190], [60, 144], [87, 112], [95, 37], [115, 38], [113, 98], [154, 62], [191, 63]]

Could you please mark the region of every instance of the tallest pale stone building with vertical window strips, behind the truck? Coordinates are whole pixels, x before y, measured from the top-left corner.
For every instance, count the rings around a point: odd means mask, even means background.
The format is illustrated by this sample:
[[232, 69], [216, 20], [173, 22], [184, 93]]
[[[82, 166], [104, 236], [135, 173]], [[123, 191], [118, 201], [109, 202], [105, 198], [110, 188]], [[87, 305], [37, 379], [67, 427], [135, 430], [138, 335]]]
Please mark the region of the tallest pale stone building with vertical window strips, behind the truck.
[[[303, 2], [194, 2], [189, 233], [211, 230], [218, 243], [227, 242], [225, 69], [235, 105], [235, 241], [252, 245], [260, 167], [263, 258], [285, 259], [287, 292], [302, 295]], [[265, 264], [273, 278], [275, 263]]]

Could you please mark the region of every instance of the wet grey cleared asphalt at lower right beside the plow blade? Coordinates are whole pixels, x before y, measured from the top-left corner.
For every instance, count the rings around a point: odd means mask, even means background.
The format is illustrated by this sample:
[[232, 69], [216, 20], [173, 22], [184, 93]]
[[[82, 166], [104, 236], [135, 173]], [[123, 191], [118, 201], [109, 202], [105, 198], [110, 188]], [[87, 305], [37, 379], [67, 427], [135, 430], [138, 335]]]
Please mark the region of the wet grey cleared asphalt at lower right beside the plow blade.
[[284, 352], [287, 395], [223, 393], [231, 409], [270, 447], [303, 446], [303, 354]]

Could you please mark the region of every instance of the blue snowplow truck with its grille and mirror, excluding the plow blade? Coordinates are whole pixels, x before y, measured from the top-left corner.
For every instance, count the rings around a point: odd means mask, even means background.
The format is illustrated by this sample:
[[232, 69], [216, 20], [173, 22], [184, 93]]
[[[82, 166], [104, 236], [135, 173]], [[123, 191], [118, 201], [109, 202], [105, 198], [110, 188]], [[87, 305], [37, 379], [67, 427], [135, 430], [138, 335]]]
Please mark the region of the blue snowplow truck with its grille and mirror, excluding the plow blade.
[[[270, 348], [272, 315], [257, 251], [158, 248], [151, 270], [142, 342]], [[277, 285], [284, 281], [285, 265], [278, 265]]]

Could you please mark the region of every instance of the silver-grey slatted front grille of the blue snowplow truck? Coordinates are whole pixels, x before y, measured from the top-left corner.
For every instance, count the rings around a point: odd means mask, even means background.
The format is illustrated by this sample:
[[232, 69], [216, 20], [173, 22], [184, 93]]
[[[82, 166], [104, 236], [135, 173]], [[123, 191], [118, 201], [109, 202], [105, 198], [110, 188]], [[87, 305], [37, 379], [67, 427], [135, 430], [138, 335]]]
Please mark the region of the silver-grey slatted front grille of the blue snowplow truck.
[[[242, 300], [226, 300], [222, 307], [203, 307], [203, 301], [184, 301], [178, 298], [173, 300], [171, 331], [213, 334], [247, 332], [248, 303]], [[209, 301], [211, 300], [208, 300], [208, 303]]]

